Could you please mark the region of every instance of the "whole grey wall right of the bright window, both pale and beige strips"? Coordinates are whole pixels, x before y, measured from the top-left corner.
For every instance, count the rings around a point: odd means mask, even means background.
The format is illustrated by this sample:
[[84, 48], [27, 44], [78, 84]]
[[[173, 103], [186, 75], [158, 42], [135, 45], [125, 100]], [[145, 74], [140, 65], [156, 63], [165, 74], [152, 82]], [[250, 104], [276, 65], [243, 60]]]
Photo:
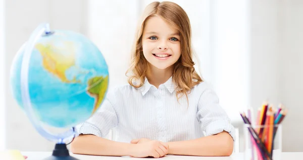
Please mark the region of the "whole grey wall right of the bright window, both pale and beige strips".
[[282, 151], [303, 151], [303, 1], [251, 1], [251, 104], [283, 103]]

